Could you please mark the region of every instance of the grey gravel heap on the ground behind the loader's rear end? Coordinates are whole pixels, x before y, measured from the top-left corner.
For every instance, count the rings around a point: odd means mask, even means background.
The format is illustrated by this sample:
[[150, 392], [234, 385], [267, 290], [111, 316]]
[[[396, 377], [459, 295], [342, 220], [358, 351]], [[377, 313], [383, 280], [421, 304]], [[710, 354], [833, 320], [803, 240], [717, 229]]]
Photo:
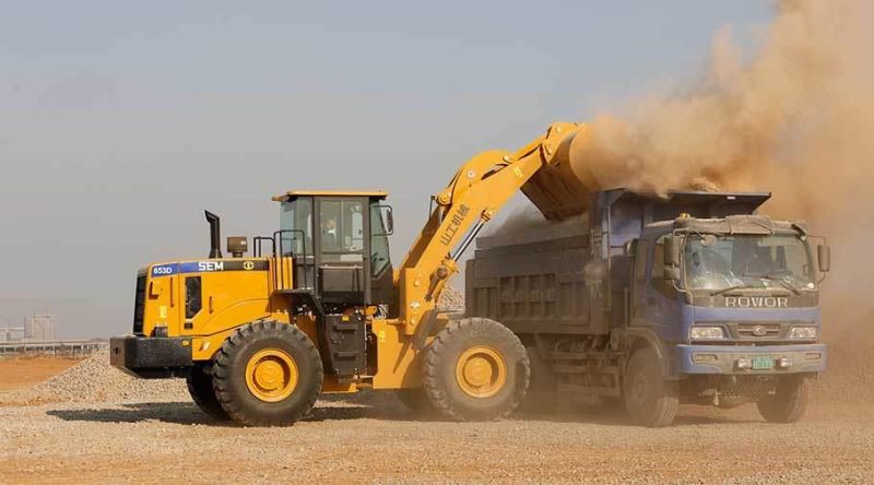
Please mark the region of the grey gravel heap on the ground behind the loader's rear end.
[[0, 394], [0, 403], [190, 400], [182, 379], [135, 379], [109, 365], [108, 351], [32, 388]]

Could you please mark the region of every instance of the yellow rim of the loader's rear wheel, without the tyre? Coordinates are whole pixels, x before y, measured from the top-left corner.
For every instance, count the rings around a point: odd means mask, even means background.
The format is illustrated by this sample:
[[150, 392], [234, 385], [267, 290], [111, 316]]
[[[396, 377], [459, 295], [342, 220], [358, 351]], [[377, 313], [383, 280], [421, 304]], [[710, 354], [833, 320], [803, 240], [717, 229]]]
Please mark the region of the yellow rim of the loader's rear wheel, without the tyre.
[[297, 387], [297, 364], [279, 348], [259, 351], [246, 365], [246, 387], [264, 402], [282, 401]]

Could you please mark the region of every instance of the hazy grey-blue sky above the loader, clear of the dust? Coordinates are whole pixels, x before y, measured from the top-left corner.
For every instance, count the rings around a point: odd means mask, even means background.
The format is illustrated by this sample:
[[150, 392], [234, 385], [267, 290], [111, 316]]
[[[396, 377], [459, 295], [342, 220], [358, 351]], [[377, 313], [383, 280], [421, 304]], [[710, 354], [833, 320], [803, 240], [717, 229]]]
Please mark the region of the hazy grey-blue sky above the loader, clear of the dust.
[[270, 198], [293, 188], [387, 190], [400, 262], [428, 196], [477, 152], [672, 86], [718, 28], [752, 46], [773, 14], [767, 0], [0, 7], [0, 327], [48, 312], [62, 338], [130, 331], [137, 270], [209, 252], [204, 209], [223, 238], [270, 234]]

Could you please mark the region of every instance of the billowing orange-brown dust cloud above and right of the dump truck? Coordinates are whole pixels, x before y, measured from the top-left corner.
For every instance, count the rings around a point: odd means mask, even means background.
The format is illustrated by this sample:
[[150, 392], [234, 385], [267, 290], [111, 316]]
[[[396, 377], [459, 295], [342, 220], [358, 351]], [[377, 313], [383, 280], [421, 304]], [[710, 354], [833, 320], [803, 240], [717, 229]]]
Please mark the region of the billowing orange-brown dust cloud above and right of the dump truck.
[[788, 0], [744, 60], [723, 27], [709, 66], [671, 96], [603, 114], [575, 140], [571, 167], [600, 187], [767, 190], [763, 210], [803, 218], [834, 246], [823, 292], [836, 372], [874, 366], [874, 2]]

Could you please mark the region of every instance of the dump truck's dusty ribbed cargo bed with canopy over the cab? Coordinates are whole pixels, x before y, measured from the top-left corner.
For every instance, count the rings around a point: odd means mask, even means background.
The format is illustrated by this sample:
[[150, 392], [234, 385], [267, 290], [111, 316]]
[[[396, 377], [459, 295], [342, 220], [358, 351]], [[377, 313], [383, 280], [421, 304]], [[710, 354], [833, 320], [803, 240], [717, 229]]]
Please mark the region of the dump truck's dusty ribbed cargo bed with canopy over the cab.
[[588, 215], [479, 238], [465, 270], [466, 314], [492, 318], [517, 333], [610, 333], [625, 321], [630, 276], [625, 244], [647, 224], [681, 214], [752, 214], [769, 197], [593, 192]]

